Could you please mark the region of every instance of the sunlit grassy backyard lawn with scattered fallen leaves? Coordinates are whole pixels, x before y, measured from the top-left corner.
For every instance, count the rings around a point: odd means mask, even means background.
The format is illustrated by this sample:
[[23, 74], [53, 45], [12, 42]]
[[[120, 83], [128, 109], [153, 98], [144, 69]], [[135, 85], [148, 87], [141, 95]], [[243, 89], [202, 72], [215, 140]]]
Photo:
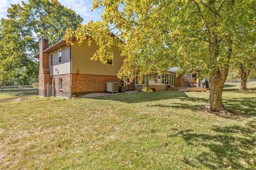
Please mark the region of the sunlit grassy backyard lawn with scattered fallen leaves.
[[[256, 91], [0, 103], [0, 169], [255, 169]], [[165, 146], [163, 142], [168, 145]]]

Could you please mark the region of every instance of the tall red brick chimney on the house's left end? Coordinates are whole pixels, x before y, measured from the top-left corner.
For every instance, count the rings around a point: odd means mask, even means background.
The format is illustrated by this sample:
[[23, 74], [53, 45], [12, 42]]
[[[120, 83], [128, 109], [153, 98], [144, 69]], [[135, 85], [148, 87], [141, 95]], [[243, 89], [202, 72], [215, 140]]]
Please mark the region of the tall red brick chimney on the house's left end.
[[49, 55], [43, 53], [45, 49], [49, 47], [49, 40], [43, 37], [39, 42], [39, 76], [38, 76], [38, 84], [39, 84], [39, 95], [46, 96], [46, 90], [43, 85], [47, 85], [47, 83], [51, 83], [50, 70], [49, 70]]

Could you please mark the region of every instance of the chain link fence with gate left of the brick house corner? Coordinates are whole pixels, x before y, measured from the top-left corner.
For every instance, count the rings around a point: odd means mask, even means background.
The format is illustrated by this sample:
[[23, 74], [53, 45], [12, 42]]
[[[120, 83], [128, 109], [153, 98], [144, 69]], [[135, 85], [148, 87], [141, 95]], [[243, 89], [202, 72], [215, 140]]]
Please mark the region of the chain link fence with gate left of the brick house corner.
[[46, 100], [71, 98], [70, 85], [1, 86], [0, 101], [46, 97]]

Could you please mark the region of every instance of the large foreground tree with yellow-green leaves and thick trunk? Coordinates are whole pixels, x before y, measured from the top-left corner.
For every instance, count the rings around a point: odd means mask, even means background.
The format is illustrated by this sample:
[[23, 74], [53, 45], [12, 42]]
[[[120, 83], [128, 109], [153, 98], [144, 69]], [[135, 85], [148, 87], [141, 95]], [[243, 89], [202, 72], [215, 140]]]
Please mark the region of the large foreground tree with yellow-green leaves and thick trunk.
[[211, 81], [205, 108], [227, 112], [223, 84], [236, 41], [246, 41], [243, 29], [255, 29], [256, 0], [94, 0], [94, 8], [104, 8], [103, 22], [68, 30], [67, 42], [73, 36], [80, 43], [94, 38], [100, 49], [93, 59], [102, 61], [111, 45], [119, 45], [126, 58], [118, 76], [124, 79], [172, 66], [185, 73], [200, 69]]

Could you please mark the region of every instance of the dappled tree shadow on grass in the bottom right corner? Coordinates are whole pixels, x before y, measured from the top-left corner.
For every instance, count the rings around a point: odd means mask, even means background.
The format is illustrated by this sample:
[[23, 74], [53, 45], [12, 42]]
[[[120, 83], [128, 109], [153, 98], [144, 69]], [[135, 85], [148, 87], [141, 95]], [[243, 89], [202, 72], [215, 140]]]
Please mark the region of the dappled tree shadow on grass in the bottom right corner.
[[212, 133], [194, 133], [192, 130], [174, 131], [168, 137], [182, 137], [196, 151], [184, 162], [194, 168], [255, 169], [256, 120], [246, 125], [214, 126]]

